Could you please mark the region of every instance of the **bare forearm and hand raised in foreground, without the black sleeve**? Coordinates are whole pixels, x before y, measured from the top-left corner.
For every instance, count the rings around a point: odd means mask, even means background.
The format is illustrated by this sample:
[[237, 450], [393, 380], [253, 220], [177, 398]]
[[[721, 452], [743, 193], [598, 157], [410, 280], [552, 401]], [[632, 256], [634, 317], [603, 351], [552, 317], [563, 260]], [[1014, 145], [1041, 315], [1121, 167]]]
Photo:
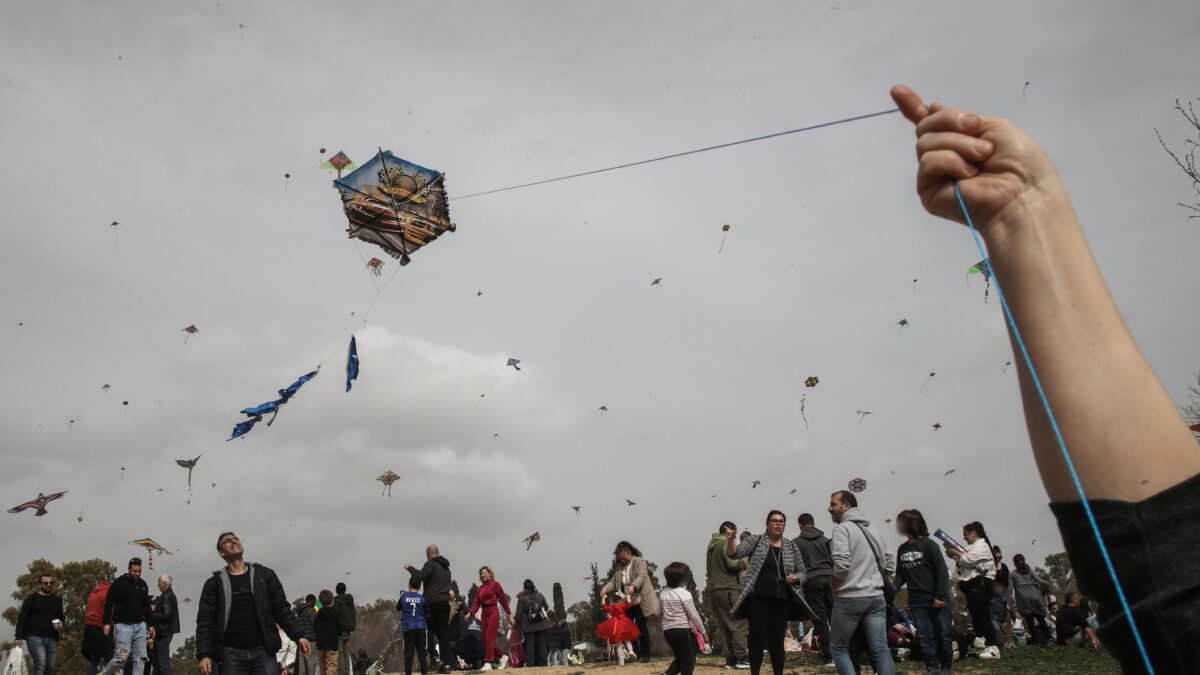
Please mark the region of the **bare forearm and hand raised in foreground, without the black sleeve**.
[[[1126, 328], [1042, 148], [1006, 120], [925, 107], [907, 86], [892, 97], [917, 126], [925, 209], [965, 222], [959, 184], [1088, 498], [1141, 501], [1200, 472], [1195, 438]], [[1079, 501], [1016, 357], [1042, 482], [1051, 501]]]

